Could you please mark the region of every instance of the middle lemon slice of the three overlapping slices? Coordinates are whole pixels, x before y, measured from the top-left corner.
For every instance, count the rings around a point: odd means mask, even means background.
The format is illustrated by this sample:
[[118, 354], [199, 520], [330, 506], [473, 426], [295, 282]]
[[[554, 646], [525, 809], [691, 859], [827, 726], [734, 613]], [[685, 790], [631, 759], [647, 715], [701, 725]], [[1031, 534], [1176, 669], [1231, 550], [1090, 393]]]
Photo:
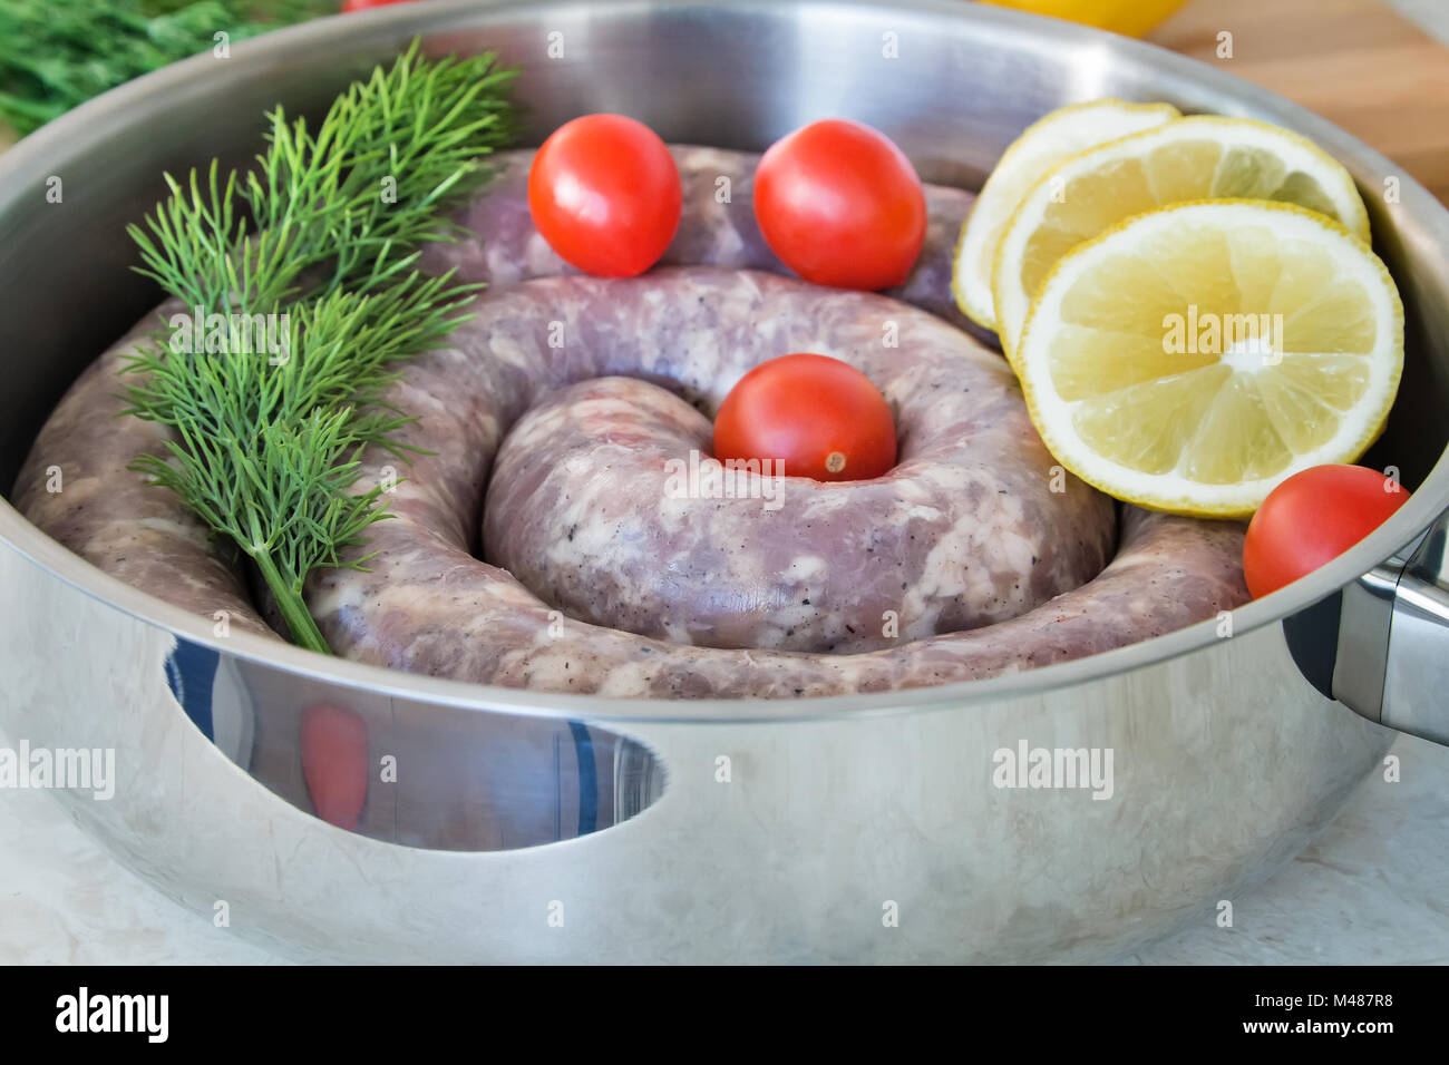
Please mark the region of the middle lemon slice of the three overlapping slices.
[[1179, 119], [1091, 148], [1026, 193], [997, 245], [991, 285], [1011, 365], [1032, 296], [1065, 252], [1133, 214], [1206, 199], [1295, 203], [1369, 236], [1349, 172], [1313, 142], [1266, 122]]

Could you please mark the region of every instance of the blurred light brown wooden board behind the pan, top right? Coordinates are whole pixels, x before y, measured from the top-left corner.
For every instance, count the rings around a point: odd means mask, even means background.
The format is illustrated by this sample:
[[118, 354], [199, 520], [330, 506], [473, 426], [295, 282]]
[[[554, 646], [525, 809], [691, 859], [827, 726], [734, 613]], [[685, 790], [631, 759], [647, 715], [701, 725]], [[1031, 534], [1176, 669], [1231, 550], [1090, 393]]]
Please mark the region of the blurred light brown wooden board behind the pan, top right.
[[1193, 0], [1148, 39], [1317, 112], [1449, 203], [1449, 48], [1379, 0]]

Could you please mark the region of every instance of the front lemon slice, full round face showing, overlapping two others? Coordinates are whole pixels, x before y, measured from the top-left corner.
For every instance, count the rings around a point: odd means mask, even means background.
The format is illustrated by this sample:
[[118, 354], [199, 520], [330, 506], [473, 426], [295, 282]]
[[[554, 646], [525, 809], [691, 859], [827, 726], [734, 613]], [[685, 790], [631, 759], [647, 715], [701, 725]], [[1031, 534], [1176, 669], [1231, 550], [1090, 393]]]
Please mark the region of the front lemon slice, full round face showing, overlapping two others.
[[1404, 367], [1404, 309], [1336, 222], [1198, 201], [1068, 252], [1017, 356], [1064, 467], [1145, 507], [1240, 517], [1285, 477], [1374, 442]]

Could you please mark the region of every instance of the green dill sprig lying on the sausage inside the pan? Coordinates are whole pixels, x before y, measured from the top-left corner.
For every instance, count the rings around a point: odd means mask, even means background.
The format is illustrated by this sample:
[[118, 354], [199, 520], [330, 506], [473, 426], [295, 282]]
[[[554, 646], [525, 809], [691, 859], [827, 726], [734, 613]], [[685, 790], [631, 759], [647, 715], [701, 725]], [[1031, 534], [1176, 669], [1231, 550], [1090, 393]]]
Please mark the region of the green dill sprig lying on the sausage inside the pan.
[[[314, 651], [329, 648], [303, 601], [307, 575], [362, 567], [369, 556], [342, 556], [387, 516], [381, 487], [354, 493], [358, 455], [372, 443], [404, 454], [394, 433], [409, 419], [383, 394], [478, 288], [420, 274], [417, 246], [454, 239], [443, 209], [513, 136], [511, 77], [493, 55], [430, 61], [414, 42], [316, 130], [274, 110], [248, 174], [223, 178], [213, 162], [184, 184], [167, 175], [171, 196], [129, 229], [138, 270], [185, 303], [183, 322], [225, 316], [206, 351], [158, 333], [129, 356], [141, 377], [128, 413], [175, 430], [165, 455], [135, 468], [256, 564], [294, 640]], [[248, 322], [267, 316], [278, 343], [254, 351]]]

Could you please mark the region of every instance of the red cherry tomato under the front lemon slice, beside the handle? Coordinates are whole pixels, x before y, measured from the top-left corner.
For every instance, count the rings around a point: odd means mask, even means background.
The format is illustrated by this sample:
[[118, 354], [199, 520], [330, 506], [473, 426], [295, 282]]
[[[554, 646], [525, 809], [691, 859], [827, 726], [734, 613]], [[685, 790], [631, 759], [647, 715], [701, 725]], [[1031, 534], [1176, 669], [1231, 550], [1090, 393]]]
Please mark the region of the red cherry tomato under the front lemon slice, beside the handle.
[[1398, 481], [1364, 467], [1311, 467], [1271, 493], [1248, 525], [1243, 577], [1253, 598], [1333, 561], [1408, 500]]

